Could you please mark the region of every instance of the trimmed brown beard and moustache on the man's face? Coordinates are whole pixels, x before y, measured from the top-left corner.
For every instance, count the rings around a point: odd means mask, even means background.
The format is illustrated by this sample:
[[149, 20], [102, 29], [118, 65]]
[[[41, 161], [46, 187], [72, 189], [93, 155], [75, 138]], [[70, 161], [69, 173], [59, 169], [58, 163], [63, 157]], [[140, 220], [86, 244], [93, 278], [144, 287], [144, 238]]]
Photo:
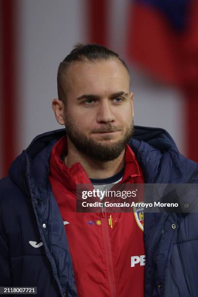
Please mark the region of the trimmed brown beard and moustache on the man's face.
[[[120, 127], [116, 127], [110, 123], [105, 124], [101, 129], [93, 130], [93, 133], [99, 132], [113, 132], [121, 131]], [[85, 134], [80, 132], [78, 128], [70, 119], [66, 120], [66, 133], [73, 145], [83, 154], [87, 155], [89, 158], [95, 159], [97, 161], [112, 161], [115, 160], [123, 149], [126, 147], [129, 140], [132, 138], [134, 132], [133, 119], [131, 124], [127, 128], [125, 134], [121, 139], [114, 143], [102, 144], [102, 141], [97, 141], [95, 139], [87, 137]], [[110, 140], [111, 135], [103, 135], [103, 140]]]

